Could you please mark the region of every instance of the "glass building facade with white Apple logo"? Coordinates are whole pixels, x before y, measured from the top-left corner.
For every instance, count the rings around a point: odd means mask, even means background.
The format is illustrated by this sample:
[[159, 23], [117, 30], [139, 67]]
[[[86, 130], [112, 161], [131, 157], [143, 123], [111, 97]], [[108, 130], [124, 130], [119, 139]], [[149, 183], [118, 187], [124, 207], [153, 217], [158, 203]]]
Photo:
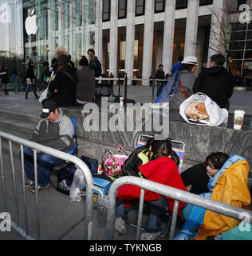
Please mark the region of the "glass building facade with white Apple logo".
[[20, 80], [33, 60], [40, 78], [42, 62], [51, 62], [57, 46], [77, 64], [94, 48], [95, 22], [95, 0], [0, 0], [0, 66]]

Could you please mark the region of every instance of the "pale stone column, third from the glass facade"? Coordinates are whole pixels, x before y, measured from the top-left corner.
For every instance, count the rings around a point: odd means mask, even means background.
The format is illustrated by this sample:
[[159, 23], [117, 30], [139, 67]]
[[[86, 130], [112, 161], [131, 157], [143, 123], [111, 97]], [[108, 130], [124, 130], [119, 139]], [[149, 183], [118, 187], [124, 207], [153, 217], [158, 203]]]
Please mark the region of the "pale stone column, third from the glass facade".
[[134, 69], [135, 1], [128, 1], [127, 10], [125, 72], [128, 75], [128, 84], [131, 85]]

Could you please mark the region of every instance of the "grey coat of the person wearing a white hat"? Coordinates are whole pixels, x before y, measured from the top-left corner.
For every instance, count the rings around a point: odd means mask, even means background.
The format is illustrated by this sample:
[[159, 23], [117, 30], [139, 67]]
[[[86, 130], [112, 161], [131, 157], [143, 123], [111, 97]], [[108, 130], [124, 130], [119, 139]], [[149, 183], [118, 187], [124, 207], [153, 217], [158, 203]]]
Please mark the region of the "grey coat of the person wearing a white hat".
[[[187, 93], [188, 97], [190, 97], [193, 94], [192, 86], [195, 83], [195, 79], [196, 79], [195, 74], [191, 73], [190, 70], [182, 70], [179, 80], [181, 82], [183, 90]], [[186, 96], [183, 94], [183, 92], [179, 89], [179, 86], [178, 86], [170, 102], [170, 105], [169, 105], [170, 109], [179, 110], [180, 104], [184, 102], [186, 99], [187, 99]]]

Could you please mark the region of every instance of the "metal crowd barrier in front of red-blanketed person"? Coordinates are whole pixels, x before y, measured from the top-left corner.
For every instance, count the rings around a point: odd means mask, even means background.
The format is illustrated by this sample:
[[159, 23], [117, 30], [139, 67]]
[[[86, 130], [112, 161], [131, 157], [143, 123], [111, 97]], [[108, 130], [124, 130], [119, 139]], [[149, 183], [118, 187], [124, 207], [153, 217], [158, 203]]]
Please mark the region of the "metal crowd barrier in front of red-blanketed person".
[[[108, 240], [114, 239], [115, 230], [115, 214], [116, 214], [116, 191], [120, 186], [131, 184], [135, 186], [140, 186], [140, 208], [137, 222], [136, 240], [140, 239], [140, 226], [143, 217], [143, 205], [144, 205], [144, 190], [151, 190], [158, 194], [162, 194], [169, 198], [175, 199], [174, 210], [171, 218], [171, 231], [170, 240], [175, 236], [175, 225], [177, 220], [177, 214], [179, 210], [179, 201], [190, 203], [191, 205], [199, 206], [207, 210], [214, 211], [218, 214], [226, 215], [230, 218], [235, 218], [240, 221], [252, 224], [252, 211], [244, 210], [236, 206], [230, 206], [223, 202], [218, 202], [209, 198], [203, 198], [197, 194], [191, 194], [190, 192], [185, 192], [183, 190], [175, 189], [171, 186], [164, 186], [162, 184], [151, 182], [143, 178], [136, 177], [122, 177], [116, 179], [112, 183], [112, 186], [108, 192], [108, 214], [106, 222], [106, 238]], [[249, 218], [248, 218], [249, 217]]]

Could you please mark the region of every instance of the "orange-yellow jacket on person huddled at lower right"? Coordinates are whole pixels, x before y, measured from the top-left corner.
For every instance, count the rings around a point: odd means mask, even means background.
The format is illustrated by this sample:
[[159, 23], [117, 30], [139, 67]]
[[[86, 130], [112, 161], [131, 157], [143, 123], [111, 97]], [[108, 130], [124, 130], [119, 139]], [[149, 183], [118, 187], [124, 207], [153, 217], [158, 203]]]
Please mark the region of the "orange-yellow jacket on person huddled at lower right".
[[[246, 208], [250, 206], [250, 191], [248, 190], [249, 164], [242, 160], [234, 163], [219, 177], [212, 191], [211, 199], [225, 202], [232, 206]], [[199, 235], [195, 240], [207, 240], [238, 226], [234, 218], [206, 211], [204, 224], [199, 227]]]

